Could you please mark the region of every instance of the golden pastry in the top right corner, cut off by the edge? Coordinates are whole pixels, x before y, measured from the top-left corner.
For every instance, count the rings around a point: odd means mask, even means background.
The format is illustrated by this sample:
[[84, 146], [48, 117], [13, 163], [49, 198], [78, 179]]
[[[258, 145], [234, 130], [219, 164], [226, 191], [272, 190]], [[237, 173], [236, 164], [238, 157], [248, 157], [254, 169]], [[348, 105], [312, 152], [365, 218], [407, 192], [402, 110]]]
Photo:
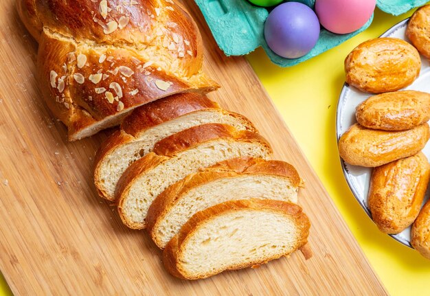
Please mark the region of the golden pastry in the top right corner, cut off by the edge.
[[420, 54], [430, 58], [430, 5], [424, 5], [412, 14], [406, 36]]

